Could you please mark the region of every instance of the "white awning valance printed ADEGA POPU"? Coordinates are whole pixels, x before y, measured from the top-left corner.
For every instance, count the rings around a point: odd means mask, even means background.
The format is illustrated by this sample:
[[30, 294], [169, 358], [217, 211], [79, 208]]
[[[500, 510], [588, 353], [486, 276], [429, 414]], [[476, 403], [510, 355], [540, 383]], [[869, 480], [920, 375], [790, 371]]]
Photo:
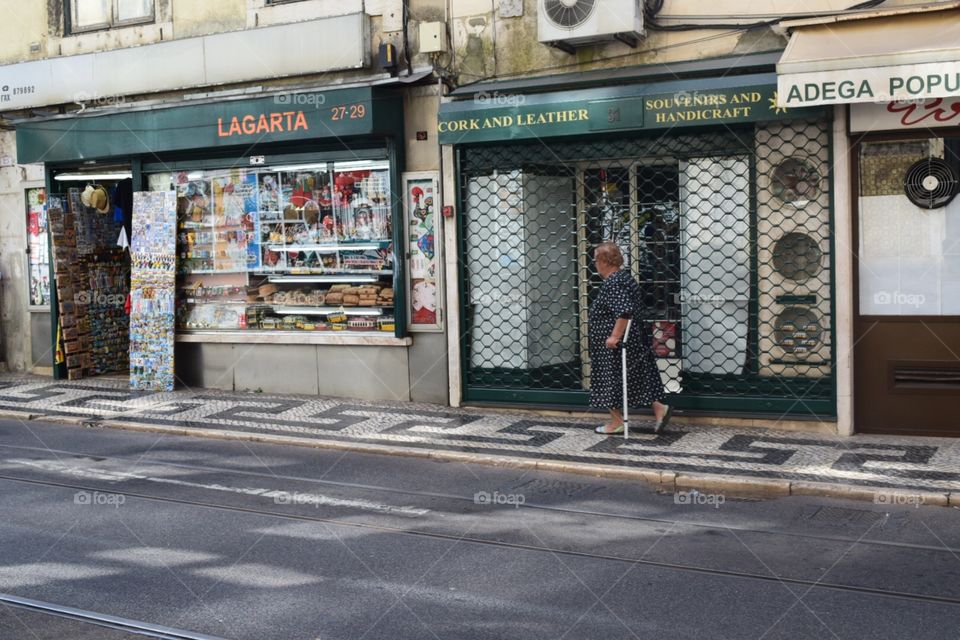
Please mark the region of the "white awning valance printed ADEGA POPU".
[[957, 62], [785, 73], [777, 78], [780, 107], [924, 100], [960, 95]]

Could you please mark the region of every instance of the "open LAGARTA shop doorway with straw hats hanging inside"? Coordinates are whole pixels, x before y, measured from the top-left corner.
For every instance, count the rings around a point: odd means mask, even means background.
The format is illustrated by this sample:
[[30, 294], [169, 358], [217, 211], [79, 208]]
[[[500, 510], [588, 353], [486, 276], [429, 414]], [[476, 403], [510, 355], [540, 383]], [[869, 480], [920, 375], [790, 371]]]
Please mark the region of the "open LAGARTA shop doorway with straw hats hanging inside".
[[55, 375], [128, 376], [130, 167], [60, 168], [50, 177]]

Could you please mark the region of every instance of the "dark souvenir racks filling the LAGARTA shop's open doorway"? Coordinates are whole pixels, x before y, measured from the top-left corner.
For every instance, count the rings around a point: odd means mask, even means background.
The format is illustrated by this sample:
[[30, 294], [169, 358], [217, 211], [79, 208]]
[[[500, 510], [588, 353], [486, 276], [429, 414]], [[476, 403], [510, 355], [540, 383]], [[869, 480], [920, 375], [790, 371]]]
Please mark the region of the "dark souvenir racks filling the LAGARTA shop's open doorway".
[[83, 206], [78, 189], [51, 196], [47, 215], [63, 346], [58, 362], [66, 362], [70, 380], [125, 371], [129, 264], [116, 248], [121, 225]]

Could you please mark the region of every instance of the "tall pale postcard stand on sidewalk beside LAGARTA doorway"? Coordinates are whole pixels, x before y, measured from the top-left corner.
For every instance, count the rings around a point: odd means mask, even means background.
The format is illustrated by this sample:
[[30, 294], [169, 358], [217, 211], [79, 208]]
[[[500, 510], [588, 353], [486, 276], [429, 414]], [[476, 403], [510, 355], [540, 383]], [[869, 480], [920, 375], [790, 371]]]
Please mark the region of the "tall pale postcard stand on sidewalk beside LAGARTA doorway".
[[130, 387], [173, 391], [177, 194], [133, 194]]

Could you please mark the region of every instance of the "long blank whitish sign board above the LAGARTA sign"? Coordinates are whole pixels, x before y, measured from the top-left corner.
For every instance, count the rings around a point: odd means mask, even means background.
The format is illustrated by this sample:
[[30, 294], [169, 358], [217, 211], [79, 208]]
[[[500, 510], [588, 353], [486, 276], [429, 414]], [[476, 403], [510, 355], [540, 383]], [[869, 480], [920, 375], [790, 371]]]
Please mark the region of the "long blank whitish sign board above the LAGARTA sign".
[[0, 111], [115, 107], [129, 95], [359, 69], [368, 41], [369, 17], [356, 13], [4, 65]]

